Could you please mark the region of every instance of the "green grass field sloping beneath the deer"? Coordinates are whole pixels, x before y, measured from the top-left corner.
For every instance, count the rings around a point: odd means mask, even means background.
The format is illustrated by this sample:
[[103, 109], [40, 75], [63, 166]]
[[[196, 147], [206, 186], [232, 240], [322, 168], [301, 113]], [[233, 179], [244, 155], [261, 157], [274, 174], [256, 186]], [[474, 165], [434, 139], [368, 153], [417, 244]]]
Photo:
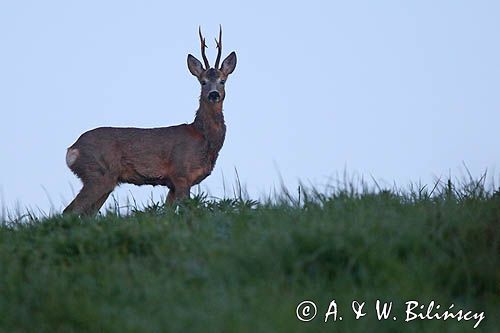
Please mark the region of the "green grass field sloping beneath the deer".
[[[499, 254], [500, 193], [480, 181], [4, 221], [0, 331], [499, 332]], [[409, 300], [485, 319], [405, 322]]]

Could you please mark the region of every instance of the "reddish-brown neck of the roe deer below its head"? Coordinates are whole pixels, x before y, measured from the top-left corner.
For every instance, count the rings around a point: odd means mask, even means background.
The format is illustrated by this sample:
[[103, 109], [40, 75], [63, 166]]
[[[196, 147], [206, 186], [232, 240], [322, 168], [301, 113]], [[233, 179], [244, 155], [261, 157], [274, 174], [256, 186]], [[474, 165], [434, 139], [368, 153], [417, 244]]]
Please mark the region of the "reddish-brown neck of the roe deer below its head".
[[222, 114], [222, 102], [207, 103], [200, 100], [193, 125], [203, 134], [211, 153], [217, 158], [226, 136], [226, 125]]

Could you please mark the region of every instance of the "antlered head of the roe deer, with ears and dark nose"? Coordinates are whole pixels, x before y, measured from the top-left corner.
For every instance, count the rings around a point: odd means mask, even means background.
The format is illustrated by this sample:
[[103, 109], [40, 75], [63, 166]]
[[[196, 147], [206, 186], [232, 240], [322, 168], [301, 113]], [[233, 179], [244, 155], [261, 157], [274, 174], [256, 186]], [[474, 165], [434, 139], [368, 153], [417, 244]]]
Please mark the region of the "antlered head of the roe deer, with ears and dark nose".
[[188, 54], [188, 68], [191, 74], [196, 76], [201, 84], [201, 102], [221, 103], [226, 95], [224, 84], [226, 83], [229, 74], [231, 74], [236, 67], [236, 53], [234, 53], [234, 51], [231, 52], [219, 67], [222, 54], [222, 27], [219, 27], [219, 40], [215, 40], [217, 45], [217, 58], [215, 60], [215, 66], [210, 67], [205, 54], [205, 48], [207, 45], [205, 43], [205, 38], [201, 34], [201, 28], [199, 28], [198, 33], [200, 35], [201, 55], [203, 57], [205, 67], [203, 67], [201, 62], [193, 55]]

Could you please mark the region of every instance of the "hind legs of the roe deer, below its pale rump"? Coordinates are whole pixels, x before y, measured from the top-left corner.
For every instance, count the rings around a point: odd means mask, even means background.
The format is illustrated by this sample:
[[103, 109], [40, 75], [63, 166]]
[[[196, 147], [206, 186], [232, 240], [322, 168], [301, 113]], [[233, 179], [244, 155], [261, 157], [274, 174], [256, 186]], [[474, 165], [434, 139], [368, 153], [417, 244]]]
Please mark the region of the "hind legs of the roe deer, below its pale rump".
[[106, 180], [92, 183], [84, 183], [80, 193], [64, 209], [63, 214], [73, 213], [77, 215], [95, 215], [104, 204], [109, 194], [113, 191], [115, 184]]

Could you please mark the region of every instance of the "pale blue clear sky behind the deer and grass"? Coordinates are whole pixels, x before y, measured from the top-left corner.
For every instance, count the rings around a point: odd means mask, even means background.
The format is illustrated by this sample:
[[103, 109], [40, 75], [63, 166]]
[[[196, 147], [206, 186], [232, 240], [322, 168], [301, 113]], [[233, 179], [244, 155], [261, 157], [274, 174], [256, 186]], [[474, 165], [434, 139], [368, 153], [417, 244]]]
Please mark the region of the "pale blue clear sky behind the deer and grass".
[[[342, 174], [410, 181], [498, 179], [500, 2], [2, 1], [0, 196], [63, 208], [79, 180], [66, 148], [98, 126], [192, 121], [199, 57], [224, 29], [227, 136], [202, 189], [234, 168], [257, 197]], [[496, 168], [496, 169], [495, 169]], [[123, 186], [143, 202], [152, 187]], [[164, 193], [155, 188], [154, 196]]]

